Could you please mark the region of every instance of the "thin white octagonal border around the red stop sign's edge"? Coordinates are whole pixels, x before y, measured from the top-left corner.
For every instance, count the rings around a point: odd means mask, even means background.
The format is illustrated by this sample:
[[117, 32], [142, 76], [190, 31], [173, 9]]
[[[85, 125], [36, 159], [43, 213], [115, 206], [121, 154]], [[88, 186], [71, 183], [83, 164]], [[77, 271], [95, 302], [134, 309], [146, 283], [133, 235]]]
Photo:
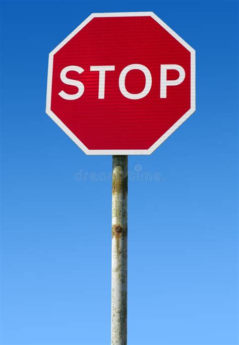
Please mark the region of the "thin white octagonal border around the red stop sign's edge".
[[[77, 34], [84, 26], [86, 26], [95, 17], [140, 17], [150, 16], [158, 24], [160, 24], [167, 32], [169, 32], [178, 42], [180, 42], [191, 53], [191, 108], [180, 118], [167, 132], [165, 132], [148, 150], [89, 150], [64, 123], [57, 118], [57, 116], [50, 109], [51, 100], [51, 82], [52, 82], [52, 68], [53, 55], [61, 49], [75, 34]], [[153, 12], [118, 12], [118, 13], [92, 13], [84, 22], [82, 22], [69, 36], [67, 36], [61, 43], [57, 45], [49, 53], [48, 75], [47, 75], [47, 94], [46, 94], [46, 113], [61, 129], [88, 155], [131, 155], [131, 154], [151, 154], [169, 135], [171, 135], [185, 120], [187, 120], [195, 111], [195, 50], [178, 36], [172, 29], [170, 29], [160, 18]]]

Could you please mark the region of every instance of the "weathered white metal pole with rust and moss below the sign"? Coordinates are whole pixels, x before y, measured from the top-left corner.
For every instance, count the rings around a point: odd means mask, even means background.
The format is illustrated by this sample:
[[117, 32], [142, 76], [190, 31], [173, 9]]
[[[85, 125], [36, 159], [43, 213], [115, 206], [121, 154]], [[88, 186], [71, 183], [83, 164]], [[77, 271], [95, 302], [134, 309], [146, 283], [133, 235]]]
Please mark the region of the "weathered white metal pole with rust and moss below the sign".
[[128, 156], [113, 156], [111, 345], [127, 345]]

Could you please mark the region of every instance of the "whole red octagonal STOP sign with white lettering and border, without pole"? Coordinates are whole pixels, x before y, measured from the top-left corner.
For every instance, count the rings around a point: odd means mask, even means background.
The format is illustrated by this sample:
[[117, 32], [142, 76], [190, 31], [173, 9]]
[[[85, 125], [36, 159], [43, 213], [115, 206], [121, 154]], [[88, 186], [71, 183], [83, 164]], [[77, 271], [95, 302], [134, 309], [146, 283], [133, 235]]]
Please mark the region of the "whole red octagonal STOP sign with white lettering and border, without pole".
[[90, 15], [49, 54], [47, 114], [87, 154], [150, 154], [195, 111], [195, 51], [155, 14]]

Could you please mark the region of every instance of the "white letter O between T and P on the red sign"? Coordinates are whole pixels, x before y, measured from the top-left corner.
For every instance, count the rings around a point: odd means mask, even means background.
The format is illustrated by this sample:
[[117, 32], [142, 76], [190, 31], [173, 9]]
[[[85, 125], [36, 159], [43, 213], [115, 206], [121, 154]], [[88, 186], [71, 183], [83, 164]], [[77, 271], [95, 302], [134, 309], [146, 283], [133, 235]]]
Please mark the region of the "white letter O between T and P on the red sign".
[[[140, 70], [145, 75], [145, 87], [144, 87], [143, 91], [141, 91], [140, 93], [130, 93], [126, 89], [126, 84], [125, 84], [126, 75], [129, 71], [132, 71], [132, 70]], [[149, 93], [151, 86], [152, 86], [151, 73], [150, 73], [149, 69], [144, 65], [132, 64], [132, 65], [126, 66], [120, 74], [120, 78], [118, 79], [118, 86], [120, 87], [121, 93], [126, 98], [129, 98], [129, 99], [143, 98], [143, 97], [147, 96], [147, 94]]]

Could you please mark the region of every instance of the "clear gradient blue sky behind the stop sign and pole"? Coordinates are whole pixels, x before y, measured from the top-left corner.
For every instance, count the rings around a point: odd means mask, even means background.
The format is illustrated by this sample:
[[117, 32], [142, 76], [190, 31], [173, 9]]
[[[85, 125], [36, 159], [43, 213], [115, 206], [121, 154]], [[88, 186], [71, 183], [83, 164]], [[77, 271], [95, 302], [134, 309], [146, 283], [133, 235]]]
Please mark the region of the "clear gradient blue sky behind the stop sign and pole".
[[237, 3], [2, 3], [1, 345], [110, 343], [111, 156], [45, 114], [48, 53], [92, 12], [153, 11], [196, 49], [197, 110], [129, 169], [130, 345], [237, 344]]

